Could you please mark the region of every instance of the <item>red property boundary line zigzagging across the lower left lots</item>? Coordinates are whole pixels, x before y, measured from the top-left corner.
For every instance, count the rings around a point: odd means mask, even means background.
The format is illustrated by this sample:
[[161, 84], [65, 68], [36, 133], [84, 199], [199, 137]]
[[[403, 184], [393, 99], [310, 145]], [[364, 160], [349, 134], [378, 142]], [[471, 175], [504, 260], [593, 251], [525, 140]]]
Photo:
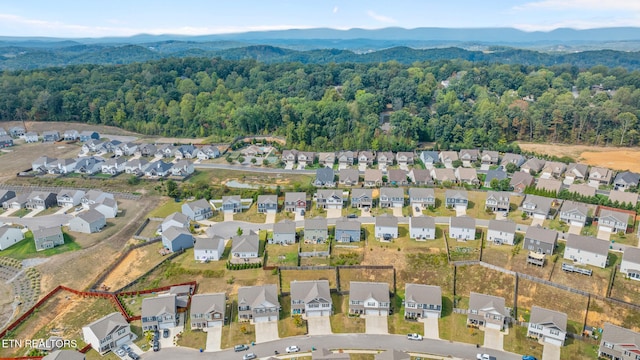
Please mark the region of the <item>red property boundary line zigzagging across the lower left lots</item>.
[[[124, 316], [124, 318], [127, 320], [127, 322], [131, 322], [134, 320], [140, 320], [141, 316], [140, 315], [135, 315], [135, 316], [129, 316], [129, 314], [127, 313], [127, 310], [125, 309], [124, 305], [122, 305], [122, 303], [120, 302], [120, 299], [118, 298], [118, 296], [127, 296], [127, 295], [141, 295], [141, 294], [150, 294], [150, 293], [155, 293], [155, 292], [161, 292], [161, 291], [167, 291], [169, 289], [171, 289], [174, 286], [182, 286], [182, 285], [191, 285], [191, 295], [193, 295], [196, 292], [198, 283], [196, 281], [189, 281], [189, 282], [185, 282], [185, 283], [180, 283], [180, 284], [173, 284], [173, 285], [168, 285], [168, 286], [161, 286], [155, 289], [149, 289], [149, 290], [140, 290], [140, 291], [123, 291], [123, 292], [108, 292], [108, 291], [78, 291], [75, 289], [72, 289], [70, 287], [66, 287], [63, 285], [58, 285], [56, 286], [55, 289], [51, 290], [47, 295], [43, 296], [42, 299], [40, 299], [37, 303], [35, 303], [35, 305], [33, 305], [29, 310], [27, 310], [24, 314], [22, 314], [19, 318], [17, 318], [14, 322], [12, 322], [11, 324], [9, 324], [9, 326], [7, 326], [6, 329], [2, 330], [2, 332], [0, 332], [0, 339], [4, 338], [8, 332], [10, 332], [11, 330], [17, 328], [20, 324], [22, 324], [29, 316], [31, 316], [39, 307], [41, 307], [47, 300], [49, 300], [52, 296], [56, 295], [57, 293], [59, 293], [60, 291], [65, 291], [65, 292], [70, 292], [72, 294], [78, 295], [78, 296], [82, 296], [82, 297], [97, 297], [97, 298], [103, 298], [103, 299], [109, 299], [111, 300], [114, 305], [118, 308], [118, 311], [120, 311], [120, 313], [122, 314], [122, 316]], [[189, 297], [188, 300], [188, 305], [191, 303], [191, 297]], [[91, 349], [91, 345], [87, 345], [84, 348], [80, 349], [81, 353], [86, 353], [87, 351], [89, 351], [89, 349]], [[5, 360], [5, 359], [11, 359], [11, 360], [31, 360], [31, 359], [42, 359], [42, 356], [23, 356], [23, 357], [16, 357], [16, 358], [0, 358], [0, 360]]]

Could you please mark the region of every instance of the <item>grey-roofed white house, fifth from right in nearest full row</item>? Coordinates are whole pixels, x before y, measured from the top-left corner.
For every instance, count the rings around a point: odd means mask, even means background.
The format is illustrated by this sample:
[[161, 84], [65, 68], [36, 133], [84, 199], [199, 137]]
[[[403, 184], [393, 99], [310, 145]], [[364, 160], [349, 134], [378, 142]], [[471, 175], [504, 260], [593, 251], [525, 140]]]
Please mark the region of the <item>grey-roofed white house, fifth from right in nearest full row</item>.
[[349, 283], [349, 314], [388, 316], [390, 309], [389, 284], [359, 281]]

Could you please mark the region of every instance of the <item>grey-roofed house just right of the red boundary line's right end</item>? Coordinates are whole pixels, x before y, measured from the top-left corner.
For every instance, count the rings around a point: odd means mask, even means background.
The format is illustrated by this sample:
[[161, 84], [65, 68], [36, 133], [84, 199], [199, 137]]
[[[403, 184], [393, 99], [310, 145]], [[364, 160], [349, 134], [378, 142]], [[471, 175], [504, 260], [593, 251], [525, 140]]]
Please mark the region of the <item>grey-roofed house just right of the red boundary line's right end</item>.
[[189, 311], [191, 329], [222, 327], [226, 318], [226, 309], [227, 296], [225, 293], [193, 295]]

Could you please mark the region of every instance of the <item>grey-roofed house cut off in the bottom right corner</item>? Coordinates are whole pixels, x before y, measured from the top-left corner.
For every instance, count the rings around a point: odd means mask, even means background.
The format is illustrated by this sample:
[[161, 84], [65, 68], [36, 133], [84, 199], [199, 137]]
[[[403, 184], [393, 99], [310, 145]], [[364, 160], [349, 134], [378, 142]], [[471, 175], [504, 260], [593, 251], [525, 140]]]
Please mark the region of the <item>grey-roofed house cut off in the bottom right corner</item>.
[[604, 323], [598, 358], [613, 360], [638, 360], [640, 333], [611, 323]]

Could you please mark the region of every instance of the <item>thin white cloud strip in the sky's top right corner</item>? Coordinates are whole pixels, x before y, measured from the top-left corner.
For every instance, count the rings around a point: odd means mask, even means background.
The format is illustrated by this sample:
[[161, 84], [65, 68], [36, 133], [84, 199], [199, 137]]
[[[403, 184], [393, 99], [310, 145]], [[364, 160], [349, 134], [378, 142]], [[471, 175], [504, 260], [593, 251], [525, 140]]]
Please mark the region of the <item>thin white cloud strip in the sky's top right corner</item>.
[[514, 10], [606, 10], [640, 11], [640, 1], [636, 0], [541, 0], [514, 6]]

